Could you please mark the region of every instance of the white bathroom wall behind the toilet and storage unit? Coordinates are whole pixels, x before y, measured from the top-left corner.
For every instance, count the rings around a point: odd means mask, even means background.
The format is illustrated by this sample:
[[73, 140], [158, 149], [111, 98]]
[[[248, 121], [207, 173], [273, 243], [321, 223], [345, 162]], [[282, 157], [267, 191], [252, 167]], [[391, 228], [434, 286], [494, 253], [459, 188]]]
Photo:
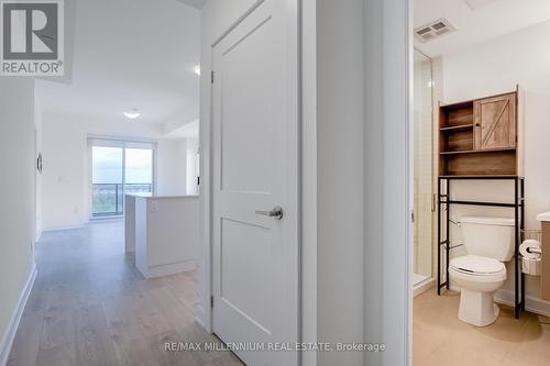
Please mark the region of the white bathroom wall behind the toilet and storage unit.
[[[514, 90], [525, 92], [525, 184], [526, 225], [540, 229], [536, 215], [550, 210], [550, 21], [471, 47], [443, 55], [444, 101], [473, 99]], [[464, 184], [457, 186], [462, 198], [509, 200], [510, 184]], [[483, 213], [513, 217], [509, 210]], [[455, 219], [480, 210], [463, 208]], [[460, 240], [460, 234], [457, 233]], [[455, 255], [463, 254], [463, 249]], [[513, 289], [513, 268], [508, 266], [506, 288]], [[527, 276], [527, 293], [538, 296], [537, 278]]]

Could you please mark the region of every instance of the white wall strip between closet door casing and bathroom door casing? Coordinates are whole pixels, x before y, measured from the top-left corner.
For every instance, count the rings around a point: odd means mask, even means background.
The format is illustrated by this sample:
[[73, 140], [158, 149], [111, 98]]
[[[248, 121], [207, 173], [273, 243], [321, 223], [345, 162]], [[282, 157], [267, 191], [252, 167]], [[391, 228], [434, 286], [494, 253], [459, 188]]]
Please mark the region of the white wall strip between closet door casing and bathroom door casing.
[[[363, 1], [318, 0], [317, 331], [333, 344], [363, 342]], [[363, 353], [321, 352], [318, 365]]]

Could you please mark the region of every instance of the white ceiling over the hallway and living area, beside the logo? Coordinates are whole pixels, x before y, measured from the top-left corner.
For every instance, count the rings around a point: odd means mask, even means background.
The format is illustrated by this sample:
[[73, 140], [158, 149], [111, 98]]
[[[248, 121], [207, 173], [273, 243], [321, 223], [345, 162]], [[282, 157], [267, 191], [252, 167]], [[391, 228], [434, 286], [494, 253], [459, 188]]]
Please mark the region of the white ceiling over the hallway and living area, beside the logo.
[[196, 120], [200, 11], [180, 1], [78, 0], [69, 84], [37, 80], [43, 108], [98, 120], [124, 119], [132, 108], [138, 122]]

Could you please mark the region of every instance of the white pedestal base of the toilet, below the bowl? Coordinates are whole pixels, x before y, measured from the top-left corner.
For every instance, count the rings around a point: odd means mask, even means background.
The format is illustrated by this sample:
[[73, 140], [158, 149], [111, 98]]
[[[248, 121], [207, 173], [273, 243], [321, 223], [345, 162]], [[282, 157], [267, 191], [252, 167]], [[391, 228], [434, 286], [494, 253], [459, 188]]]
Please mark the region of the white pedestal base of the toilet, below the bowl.
[[493, 300], [494, 292], [480, 292], [462, 288], [460, 292], [459, 319], [475, 326], [493, 324], [499, 309]]

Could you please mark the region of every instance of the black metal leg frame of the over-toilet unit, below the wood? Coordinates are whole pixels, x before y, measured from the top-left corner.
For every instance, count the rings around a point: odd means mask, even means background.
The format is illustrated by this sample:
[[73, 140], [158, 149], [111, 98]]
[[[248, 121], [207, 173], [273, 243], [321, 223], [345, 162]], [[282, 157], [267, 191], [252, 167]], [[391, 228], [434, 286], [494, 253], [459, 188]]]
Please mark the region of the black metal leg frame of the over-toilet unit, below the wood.
[[[514, 203], [509, 202], [483, 202], [464, 201], [451, 199], [452, 180], [512, 180], [514, 181]], [[444, 193], [442, 184], [444, 182]], [[514, 246], [514, 317], [517, 319], [525, 311], [525, 274], [521, 271], [521, 257], [519, 255], [519, 244], [522, 242], [525, 231], [525, 179], [519, 176], [439, 176], [438, 178], [438, 295], [441, 288], [449, 289], [449, 252], [452, 248], [450, 242], [451, 206], [485, 206], [504, 207], [514, 209], [515, 223], [515, 246]], [[443, 210], [444, 208], [444, 210]], [[446, 214], [444, 239], [442, 239], [442, 211]], [[444, 246], [446, 255], [446, 281], [441, 279], [441, 246]]]

